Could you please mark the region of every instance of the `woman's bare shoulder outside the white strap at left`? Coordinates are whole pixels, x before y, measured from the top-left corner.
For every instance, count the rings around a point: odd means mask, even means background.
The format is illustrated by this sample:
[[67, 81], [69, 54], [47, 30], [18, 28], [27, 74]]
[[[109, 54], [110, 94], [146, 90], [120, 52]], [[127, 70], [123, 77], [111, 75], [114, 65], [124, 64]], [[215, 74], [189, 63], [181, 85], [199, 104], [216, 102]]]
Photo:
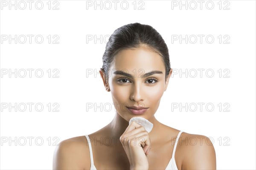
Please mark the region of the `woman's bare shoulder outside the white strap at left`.
[[61, 141], [54, 151], [52, 169], [90, 169], [90, 152], [86, 137], [77, 136]]

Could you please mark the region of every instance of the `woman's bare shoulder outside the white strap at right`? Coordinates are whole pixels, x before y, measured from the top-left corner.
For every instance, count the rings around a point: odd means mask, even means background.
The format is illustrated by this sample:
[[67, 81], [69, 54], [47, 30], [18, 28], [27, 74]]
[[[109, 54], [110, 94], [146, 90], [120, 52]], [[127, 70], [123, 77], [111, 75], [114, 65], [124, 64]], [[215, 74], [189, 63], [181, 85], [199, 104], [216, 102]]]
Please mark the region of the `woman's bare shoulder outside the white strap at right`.
[[178, 140], [177, 150], [182, 155], [183, 170], [216, 169], [215, 149], [207, 136], [183, 132]]

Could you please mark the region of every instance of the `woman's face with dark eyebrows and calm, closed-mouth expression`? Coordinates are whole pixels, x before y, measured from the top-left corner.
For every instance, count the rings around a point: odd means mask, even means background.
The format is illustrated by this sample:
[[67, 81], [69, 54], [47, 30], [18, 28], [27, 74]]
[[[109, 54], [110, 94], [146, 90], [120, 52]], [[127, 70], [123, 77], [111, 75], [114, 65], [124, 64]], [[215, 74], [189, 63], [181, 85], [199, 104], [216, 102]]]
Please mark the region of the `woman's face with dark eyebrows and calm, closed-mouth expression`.
[[[148, 74], [152, 71], [152, 74]], [[150, 119], [159, 107], [171, 74], [172, 72], [165, 82], [163, 60], [159, 54], [148, 48], [120, 51], [111, 65], [107, 84], [116, 111], [128, 122], [136, 116]], [[127, 108], [131, 106], [147, 109], [143, 114], [135, 115]]]

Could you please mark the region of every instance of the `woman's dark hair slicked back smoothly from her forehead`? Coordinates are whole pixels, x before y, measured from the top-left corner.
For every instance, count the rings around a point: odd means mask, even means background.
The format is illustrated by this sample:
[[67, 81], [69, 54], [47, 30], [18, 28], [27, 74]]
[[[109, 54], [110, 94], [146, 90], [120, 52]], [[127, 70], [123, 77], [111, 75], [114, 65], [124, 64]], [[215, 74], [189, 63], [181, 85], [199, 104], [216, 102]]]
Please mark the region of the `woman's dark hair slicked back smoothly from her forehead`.
[[171, 65], [166, 43], [152, 26], [140, 23], [131, 23], [117, 28], [109, 37], [105, 53], [102, 57], [102, 68], [105, 76], [109, 77], [109, 68], [115, 61], [114, 57], [119, 51], [129, 48], [139, 48], [141, 46], [146, 46], [160, 54], [165, 63], [167, 77], [171, 70]]

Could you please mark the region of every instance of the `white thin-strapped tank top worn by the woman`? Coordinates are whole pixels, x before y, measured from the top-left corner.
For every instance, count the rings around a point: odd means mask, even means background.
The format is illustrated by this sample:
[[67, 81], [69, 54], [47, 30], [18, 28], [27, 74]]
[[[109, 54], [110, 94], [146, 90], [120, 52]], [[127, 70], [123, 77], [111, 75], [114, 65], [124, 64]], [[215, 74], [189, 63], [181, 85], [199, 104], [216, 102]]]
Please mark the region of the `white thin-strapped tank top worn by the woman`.
[[[172, 151], [172, 158], [170, 159], [170, 161], [169, 161], [169, 163], [166, 167], [166, 170], [178, 170], [176, 162], [175, 162], [174, 155], [175, 155], [175, 150], [176, 150], [176, 147], [177, 147], [178, 140], [180, 138], [180, 134], [182, 132], [183, 131], [180, 131], [177, 135], [177, 138], [176, 138], [176, 141], [175, 141], [175, 144], [174, 144], [174, 147], [173, 147], [173, 151]], [[90, 162], [91, 162], [90, 170], [97, 170], [95, 165], [94, 165], [94, 162], [93, 162], [93, 150], [92, 150], [92, 145], [91, 145], [91, 142], [90, 142], [90, 138], [89, 138], [88, 135], [85, 135], [85, 137], [87, 138], [88, 145], [89, 145], [89, 150], [90, 150]]]

